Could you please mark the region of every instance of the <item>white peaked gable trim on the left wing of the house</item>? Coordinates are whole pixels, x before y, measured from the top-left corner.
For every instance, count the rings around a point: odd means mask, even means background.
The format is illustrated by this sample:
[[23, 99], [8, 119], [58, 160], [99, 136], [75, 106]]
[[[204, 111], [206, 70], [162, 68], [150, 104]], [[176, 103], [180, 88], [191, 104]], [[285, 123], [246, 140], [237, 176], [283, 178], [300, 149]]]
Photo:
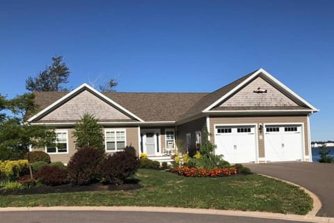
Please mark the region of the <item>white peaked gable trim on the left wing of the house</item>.
[[100, 93], [99, 91], [96, 91], [95, 89], [93, 89], [93, 87], [89, 86], [86, 83], [81, 84], [81, 86], [78, 86], [77, 89], [74, 89], [70, 93], [67, 93], [67, 95], [65, 95], [62, 98], [56, 100], [56, 102], [52, 103], [51, 105], [49, 105], [45, 109], [42, 109], [42, 111], [38, 112], [38, 114], [35, 114], [31, 118], [29, 118], [27, 122], [31, 122], [31, 121], [35, 120], [35, 118], [38, 118], [39, 116], [42, 116], [42, 114], [47, 113], [53, 107], [56, 107], [58, 104], [60, 104], [61, 102], [63, 102], [67, 98], [70, 98], [72, 95], [74, 95], [75, 93], [81, 91], [81, 89], [85, 89], [85, 88], [88, 89], [89, 91], [92, 91], [93, 93], [97, 94], [100, 98], [103, 98], [107, 102], [111, 103], [111, 105], [113, 105], [113, 106], [117, 107], [118, 109], [122, 110], [123, 112], [127, 113], [129, 116], [132, 116], [133, 118], [136, 118], [138, 121], [144, 122], [143, 119], [139, 118], [138, 116], [136, 116], [132, 112], [129, 112], [129, 110], [125, 109], [124, 107], [122, 107], [118, 103], [116, 103], [113, 100], [111, 100], [110, 98], [106, 97], [106, 95]]

